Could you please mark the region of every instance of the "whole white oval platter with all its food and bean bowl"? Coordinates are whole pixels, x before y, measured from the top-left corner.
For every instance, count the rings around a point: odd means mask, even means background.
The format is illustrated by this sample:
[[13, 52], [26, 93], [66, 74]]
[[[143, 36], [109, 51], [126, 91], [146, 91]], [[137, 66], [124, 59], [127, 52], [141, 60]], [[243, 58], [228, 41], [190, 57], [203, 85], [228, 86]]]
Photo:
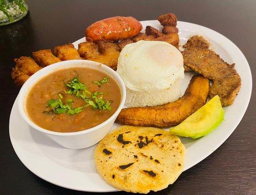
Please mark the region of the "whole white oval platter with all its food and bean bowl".
[[11, 73], [23, 85], [12, 144], [33, 173], [75, 190], [168, 187], [231, 135], [250, 99], [250, 68], [234, 43], [172, 13], [100, 20], [85, 38], [32, 57], [15, 59]]

